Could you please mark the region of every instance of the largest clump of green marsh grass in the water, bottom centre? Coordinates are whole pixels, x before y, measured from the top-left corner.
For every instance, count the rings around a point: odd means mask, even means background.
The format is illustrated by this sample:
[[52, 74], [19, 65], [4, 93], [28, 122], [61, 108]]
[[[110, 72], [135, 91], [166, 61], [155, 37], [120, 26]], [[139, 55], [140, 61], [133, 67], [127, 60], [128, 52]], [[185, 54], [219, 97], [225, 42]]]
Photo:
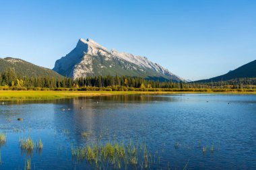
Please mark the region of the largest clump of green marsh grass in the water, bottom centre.
[[139, 144], [129, 142], [106, 142], [106, 144], [94, 143], [92, 145], [74, 148], [71, 147], [71, 155], [77, 161], [86, 161], [95, 168], [106, 168], [110, 165], [113, 169], [127, 169], [127, 167], [148, 169], [153, 163], [146, 143], [139, 149]]

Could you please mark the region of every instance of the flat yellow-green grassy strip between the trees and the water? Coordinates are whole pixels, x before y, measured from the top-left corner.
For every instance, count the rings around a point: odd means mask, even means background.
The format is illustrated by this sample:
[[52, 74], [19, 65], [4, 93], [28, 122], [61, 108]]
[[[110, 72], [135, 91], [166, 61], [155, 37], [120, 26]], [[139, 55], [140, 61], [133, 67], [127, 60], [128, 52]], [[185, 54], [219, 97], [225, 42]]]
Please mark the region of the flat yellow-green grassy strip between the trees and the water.
[[253, 94], [250, 91], [0, 91], [1, 100], [14, 99], [63, 99], [98, 95], [168, 95], [184, 93]]

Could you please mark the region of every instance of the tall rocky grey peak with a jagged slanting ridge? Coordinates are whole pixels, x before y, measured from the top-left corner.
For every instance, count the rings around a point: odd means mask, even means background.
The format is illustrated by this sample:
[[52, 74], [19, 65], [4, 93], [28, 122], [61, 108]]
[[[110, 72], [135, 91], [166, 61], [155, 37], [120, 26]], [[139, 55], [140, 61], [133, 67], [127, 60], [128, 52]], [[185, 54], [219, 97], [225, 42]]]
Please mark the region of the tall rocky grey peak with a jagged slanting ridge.
[[91, 39], [79, 39], [69, 54], [55, 62], [53, 70], [74, 79], [97, 75], [127, 75], [160, 81], [184, 81], [144, 56], [108, 50]]

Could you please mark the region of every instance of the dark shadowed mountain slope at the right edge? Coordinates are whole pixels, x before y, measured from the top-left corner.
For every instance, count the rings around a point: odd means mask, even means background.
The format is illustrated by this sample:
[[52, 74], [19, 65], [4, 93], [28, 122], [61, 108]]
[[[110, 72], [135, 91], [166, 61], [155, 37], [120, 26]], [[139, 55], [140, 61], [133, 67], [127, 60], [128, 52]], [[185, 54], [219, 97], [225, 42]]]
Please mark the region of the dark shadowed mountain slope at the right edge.
[[212, 79], [200, 80], [197, 82], [214, 82], [214, 81], [226, 81], [236, 78], [245, 78], [245, 77], [256, 77], [256, 60], [247, 63], [241, 67], [238, 67], [234, 71], [229, 71], [225, 75], [220, 75]]

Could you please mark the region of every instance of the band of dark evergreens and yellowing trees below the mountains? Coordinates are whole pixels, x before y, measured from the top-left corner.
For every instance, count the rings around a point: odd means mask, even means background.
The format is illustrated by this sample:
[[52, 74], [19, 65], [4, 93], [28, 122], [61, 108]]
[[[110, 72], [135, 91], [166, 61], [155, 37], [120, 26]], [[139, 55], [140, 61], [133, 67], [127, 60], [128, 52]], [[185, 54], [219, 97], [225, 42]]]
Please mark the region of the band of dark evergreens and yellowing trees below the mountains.
[[95, 76], [71, 79], [63, 77], [26, 77], [15, 73], [14, 69], [7, 69], [0, 74], [0, 85], [2, 87], [42, 87], [42, 88], [83, 88], [83, 87], [108, 87], [113, 90], [117, 88], [140, 88], [140, 89], [255, 89], [256, 78], [241, 78], [228, 81], [211, 83], [185, 83], [185, 81], [153, 81], [141, 77], [128, 76]]

